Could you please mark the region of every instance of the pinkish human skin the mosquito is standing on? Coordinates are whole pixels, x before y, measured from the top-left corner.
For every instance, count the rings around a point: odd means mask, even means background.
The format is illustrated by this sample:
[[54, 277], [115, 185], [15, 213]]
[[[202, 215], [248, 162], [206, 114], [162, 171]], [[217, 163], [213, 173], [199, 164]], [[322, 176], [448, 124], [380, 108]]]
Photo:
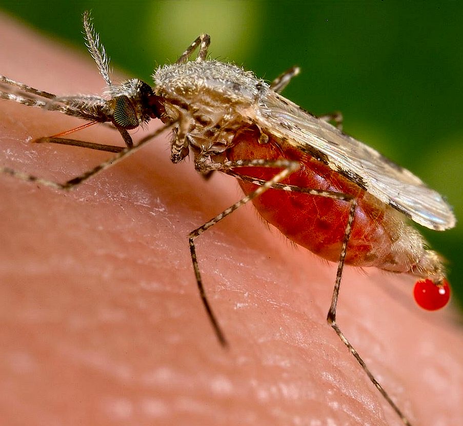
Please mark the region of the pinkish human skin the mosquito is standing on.
[[[89, 55], [1, 15], [0, 39], [2, 74], [57, 94], [102, 91]], [[30, 142], [77, 119], [5, 100], [0, 111], [3, 166], [65, 181], [112, 155]], [[120, 145], [102, 126], [77, 135]], [[219, 346], [186, 235], [240, 192], [191, 160], [172, 165], [167, 135], [71, 192], [0, 179], [0, 423], [401, 424], [326, 322], [336, 265], [252, 207], [197, 239], [230, 343]], [[345, 268], [338, 323], [413, 424], [463, 424], [457, 315], [416, 307], [413, 281]]]

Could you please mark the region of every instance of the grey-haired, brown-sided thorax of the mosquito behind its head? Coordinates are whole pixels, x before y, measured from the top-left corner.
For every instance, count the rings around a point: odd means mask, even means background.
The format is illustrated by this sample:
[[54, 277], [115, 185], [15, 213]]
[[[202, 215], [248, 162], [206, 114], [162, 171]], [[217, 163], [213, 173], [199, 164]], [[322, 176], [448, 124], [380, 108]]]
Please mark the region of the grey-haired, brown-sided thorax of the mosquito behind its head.
[[188, 121], [188, 141], [204, 154], [223, 152], [236, 131], [253, 123], [252, 112], [268, 84], [252, 72], [215, 60], [160, 67], [155, 94], [164, 99], [163, 121]]

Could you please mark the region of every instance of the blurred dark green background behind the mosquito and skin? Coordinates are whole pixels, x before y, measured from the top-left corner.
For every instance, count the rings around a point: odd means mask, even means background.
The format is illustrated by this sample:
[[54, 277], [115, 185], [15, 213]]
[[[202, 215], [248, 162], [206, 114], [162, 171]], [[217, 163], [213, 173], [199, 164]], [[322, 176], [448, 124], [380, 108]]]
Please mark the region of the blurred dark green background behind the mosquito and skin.
[[[343, 112], [347, 133], [412, 170], [463, 217], [460, 2], [0, 0], [0, 8], [81, 49], [81, 15], [91, 9], [112, 66], [146, 82], [202, 32], [214, 57], [257, 76], [299, 65], [286, 97], [315, 114]], [[449, 259], [462, 306], [463, 226], [420, 230]]]

